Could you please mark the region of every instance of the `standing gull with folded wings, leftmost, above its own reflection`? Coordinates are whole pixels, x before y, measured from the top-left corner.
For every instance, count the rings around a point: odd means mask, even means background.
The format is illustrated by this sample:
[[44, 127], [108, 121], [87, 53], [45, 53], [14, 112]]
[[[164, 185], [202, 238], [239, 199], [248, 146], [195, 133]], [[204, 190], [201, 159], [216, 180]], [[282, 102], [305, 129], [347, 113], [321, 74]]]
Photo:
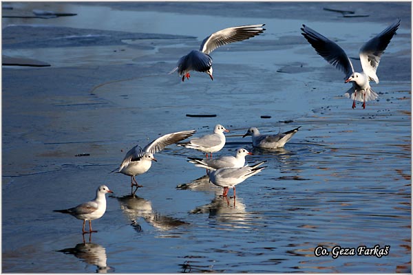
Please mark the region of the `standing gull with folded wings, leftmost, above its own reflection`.
[[[76, 219], [83, 219], [83, 234], [92, 233], [92, 220], [99, 219], [105, 214], [106, 211], [106, 193], [113, 193], [105, 185], [101, 185], [96, 190], [96, 197], [92, 201], [79, 204], [74, 208], [54, 210], [54, 212], [61, 212], [65, 214], [71, 214]], [[85, 223], [89, 221], [89, 232], [85, 231]]]

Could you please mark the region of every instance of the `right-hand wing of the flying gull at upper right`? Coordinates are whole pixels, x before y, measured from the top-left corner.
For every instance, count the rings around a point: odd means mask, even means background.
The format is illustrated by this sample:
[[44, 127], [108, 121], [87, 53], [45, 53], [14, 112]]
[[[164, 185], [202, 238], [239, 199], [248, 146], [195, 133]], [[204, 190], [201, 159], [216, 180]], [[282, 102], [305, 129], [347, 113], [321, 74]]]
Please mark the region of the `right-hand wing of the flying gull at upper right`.
[[400, 19], [367, 41], [360, 49], [359, 55], [363, 72], [368, 75], [370, 80], [374, 80], [376, 83], [379, 83], [376, 71], [377, 67], [379, 67], [381, 55], [384, 54], [385, 48], [389, 45], [399, 26]]

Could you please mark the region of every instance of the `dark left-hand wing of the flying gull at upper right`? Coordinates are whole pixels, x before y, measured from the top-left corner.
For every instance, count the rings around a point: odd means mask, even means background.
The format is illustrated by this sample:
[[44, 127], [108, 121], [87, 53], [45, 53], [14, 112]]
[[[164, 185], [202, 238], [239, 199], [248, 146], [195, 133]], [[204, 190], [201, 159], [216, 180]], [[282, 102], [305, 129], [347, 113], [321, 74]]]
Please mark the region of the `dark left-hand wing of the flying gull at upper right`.
[[339, 45], [330, 41], [326, 36], [308, 28], [306, 25], [303, 25], [301, 31], [301, 34], [307, 39], [308, 43], [314, 47], [317, 54], [322, 56], [336, 69], [341, 70], [341, 72], [346, 74], [346, 77], [354, 72], [350, 59]]

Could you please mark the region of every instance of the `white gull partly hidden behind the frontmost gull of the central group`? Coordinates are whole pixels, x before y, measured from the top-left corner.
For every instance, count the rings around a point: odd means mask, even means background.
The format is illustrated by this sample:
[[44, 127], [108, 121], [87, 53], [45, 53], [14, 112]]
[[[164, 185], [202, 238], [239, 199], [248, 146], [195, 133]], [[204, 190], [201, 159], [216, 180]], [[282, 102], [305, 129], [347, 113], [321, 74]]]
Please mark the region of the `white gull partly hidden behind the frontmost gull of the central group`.
[[241, 168], [245, 166], [245, 156], [252, 155], [244, 148], [239, 148], [235, 157], [232, 155], [226, 155], [218, 157], [216, 159], [200, 159], [196, 157], [188, 157], [188, 162], [195, 164], [197, 167], [210, 166], [215, 169], [219, 168]]

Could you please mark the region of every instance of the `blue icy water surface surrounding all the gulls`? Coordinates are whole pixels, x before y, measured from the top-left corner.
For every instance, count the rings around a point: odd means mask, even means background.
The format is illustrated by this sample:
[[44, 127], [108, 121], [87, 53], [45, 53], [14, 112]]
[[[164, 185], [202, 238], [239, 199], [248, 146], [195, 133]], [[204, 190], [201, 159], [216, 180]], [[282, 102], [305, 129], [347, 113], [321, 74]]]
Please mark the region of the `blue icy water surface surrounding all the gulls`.
[[[10, 5], [12, 14], [78, 15], [3, 18], [3, 54], [51, 65], [3, 66], [3, 272], [411, 272], [410, 3]], [[379, 99], [353, 110], [341, 72], [299, 28], [357, 57], [396, 17], [373, 86]], [[168, 74], [211, 32], [248, 23], [267, 30], [215, 50], [213, 81]], [[129, 177], [109, 173], [137, 143], [218, 123], [231, 132], [215, 155], [243, 147], [249, 164], [266, 160], [236, 199], [187, 162], [202, 153], [178, 146], [137, 176], [137, 197]], [[266, 151], [242, 138], [250, 126], [301, 128]], [[97, 233], [82, 236], [81, 221], [52, 212], [92, 199], [100, 184], [115, 193], [92, 222]], [[362, 246], [381, 254], [357, 255]], [[350, 255], [334, 256], [338, 248]]]

